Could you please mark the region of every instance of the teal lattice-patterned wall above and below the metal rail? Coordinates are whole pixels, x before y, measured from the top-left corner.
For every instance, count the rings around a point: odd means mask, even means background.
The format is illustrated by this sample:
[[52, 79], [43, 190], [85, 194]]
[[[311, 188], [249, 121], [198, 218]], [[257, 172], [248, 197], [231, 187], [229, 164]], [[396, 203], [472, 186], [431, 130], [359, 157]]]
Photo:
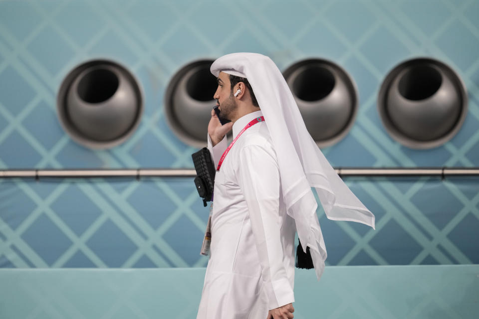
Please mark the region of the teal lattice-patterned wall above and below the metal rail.
[[[192, 167], [196, 150], [165, 122], [173, 74], [199, 58], [253, 51], [281, 70], [309, 57], [341, 65], [359, 112], [324, 149], [335, 166], [479, 166], [479, 2], [473, 0], [0, 2], [0, 169]], [[383, 128], [376, 97], [388, 71], [419, 56], [453, 67], [469, 113], [444, 146], [411, 150]], [[74, 143], [56, 118], [66, 74], [113, 59], [139, 79], [145, 113], [107, 151]], [[376, 231], [318, 211], [329, 265], [479, 263], [479, 180], [347, 179]], [[190, 178], [0, 180], [0, 267], [202, 267], [208, 210]]]

